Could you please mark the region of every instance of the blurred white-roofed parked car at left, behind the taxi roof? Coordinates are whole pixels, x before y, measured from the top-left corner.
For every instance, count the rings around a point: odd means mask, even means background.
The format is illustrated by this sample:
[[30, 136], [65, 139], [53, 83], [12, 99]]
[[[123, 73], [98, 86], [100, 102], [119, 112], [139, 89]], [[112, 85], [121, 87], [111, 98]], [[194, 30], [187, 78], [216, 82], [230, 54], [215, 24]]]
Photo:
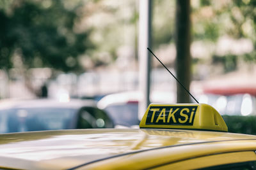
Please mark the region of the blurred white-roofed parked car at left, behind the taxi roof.
[[112, 127], [109, 115], [90, 100], [0, 102], [0, 133]]

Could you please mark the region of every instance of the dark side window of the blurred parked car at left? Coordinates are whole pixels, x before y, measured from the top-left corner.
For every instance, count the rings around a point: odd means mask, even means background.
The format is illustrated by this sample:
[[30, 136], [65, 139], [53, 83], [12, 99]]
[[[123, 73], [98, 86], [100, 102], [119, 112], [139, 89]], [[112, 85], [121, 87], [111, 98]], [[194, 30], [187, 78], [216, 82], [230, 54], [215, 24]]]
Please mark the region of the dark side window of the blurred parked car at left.
[[79, 111], [77, 128], [113, 128], [113, 122], [104, 111], [88, 107]]

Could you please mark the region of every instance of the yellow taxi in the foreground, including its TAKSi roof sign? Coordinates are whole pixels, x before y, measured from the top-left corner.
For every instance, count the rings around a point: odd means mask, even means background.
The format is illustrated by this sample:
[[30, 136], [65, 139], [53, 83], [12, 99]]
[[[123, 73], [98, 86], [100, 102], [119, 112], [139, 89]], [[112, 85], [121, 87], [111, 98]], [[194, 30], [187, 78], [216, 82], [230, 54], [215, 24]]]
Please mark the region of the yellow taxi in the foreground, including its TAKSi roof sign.
[[255, 169], [256, 136], [207, 104], [150, 104], [140, 129], [0, 135], [0, 169]]

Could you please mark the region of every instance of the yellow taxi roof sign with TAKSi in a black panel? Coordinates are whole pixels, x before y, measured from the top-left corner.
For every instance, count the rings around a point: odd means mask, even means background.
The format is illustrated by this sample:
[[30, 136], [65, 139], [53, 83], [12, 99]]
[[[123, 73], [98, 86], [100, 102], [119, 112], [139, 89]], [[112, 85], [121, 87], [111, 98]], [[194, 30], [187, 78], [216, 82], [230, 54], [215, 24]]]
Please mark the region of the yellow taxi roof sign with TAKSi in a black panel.
[[228, 131], [220, 113], [208, 104], [150, 104], [140, 128]]

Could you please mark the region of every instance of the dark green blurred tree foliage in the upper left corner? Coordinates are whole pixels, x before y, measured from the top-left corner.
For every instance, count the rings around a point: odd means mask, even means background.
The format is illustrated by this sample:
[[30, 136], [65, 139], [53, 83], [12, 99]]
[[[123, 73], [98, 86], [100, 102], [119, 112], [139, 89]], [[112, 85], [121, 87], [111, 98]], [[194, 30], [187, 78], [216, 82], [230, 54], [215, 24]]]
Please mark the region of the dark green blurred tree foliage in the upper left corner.
[[92, 45], [88, 32], [74, 32], [79, 17], [64, 3], [13, 1], [11, 13], [0, 11], [0, 68], [12, 67], [13, 53], [19, 53], [25, 67], [81, 69], [77, 58]]

